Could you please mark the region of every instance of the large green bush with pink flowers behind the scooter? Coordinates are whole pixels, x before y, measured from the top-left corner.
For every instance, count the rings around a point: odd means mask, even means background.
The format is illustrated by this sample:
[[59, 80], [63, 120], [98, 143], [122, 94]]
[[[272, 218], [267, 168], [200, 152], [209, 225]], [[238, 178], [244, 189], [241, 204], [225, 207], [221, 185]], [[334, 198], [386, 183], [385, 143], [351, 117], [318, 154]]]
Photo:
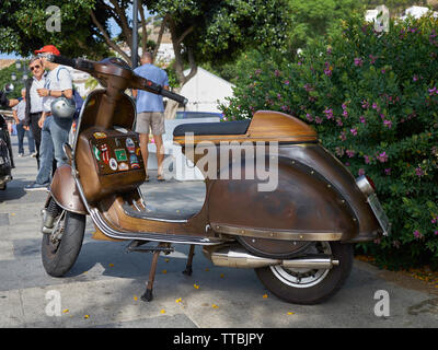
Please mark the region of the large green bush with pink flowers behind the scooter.
[[389, 268], [438, 266], [437, 19], [377, 33], [353, 18], [293, 61], [258, 57], [239, 75], [221, 106], [228, 119], [258, 109], [295, 115], [353, 175], [373, 179], [392, 233], [360, 249]]

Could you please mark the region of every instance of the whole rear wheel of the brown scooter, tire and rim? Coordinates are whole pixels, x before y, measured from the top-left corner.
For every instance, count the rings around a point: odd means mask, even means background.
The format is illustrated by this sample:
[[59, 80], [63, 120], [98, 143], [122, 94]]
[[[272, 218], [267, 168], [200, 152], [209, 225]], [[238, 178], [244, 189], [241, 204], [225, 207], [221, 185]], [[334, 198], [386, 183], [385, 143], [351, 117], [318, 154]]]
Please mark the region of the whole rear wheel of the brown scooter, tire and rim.
[[279, 299], [293, 304], [319, 304], [344, 284], [353, 267], [353, 245], [315, 242], [309, 254], [331, 255], [338, 260], [331, 269], [285, 268], [280, 265], [255, 269], [262, 283]]

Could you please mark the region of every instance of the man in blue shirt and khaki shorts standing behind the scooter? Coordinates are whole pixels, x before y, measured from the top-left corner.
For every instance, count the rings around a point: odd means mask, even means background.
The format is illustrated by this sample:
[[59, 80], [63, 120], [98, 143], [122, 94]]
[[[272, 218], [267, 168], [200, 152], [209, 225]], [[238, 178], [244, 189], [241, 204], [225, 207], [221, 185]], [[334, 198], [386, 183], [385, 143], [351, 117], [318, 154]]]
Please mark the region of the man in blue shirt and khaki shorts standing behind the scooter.
[[[145, 52], [141, 57], [142, 66], [136, 68], [134, 71], [138, 75], [153, 81], [154, 83], [162, 85], [165, 90], [169, 90], [168, 73], [163, 69], [153, 66], [152, 62], [152, 54]], [[138, 132], [140, 137], [140, 149], [145, 162], [146, 180], [149, 180], [147, 167], [149, 156], [149, 129], [151, 129], [157, 145], [158, 180], [162, 182], [164, 180], [164, 148], [162, 135], [165, 132], [163, 97], [142, 90], [134, 91], [132, 94], [137, 97], [136, 132]]]

